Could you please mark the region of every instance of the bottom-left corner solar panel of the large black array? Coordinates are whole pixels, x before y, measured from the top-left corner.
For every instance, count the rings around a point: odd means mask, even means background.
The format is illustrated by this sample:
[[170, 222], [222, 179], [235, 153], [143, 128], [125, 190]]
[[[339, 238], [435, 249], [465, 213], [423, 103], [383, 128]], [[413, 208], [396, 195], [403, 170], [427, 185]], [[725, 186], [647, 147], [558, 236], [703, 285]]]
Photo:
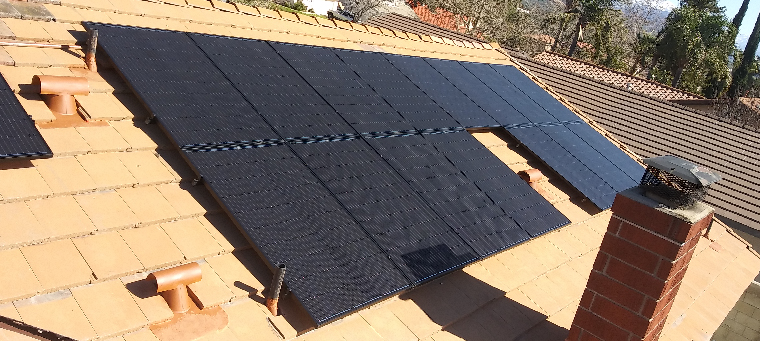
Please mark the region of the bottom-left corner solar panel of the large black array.
[[409, 286], [287, 146], [187, 155], [317, 323]]

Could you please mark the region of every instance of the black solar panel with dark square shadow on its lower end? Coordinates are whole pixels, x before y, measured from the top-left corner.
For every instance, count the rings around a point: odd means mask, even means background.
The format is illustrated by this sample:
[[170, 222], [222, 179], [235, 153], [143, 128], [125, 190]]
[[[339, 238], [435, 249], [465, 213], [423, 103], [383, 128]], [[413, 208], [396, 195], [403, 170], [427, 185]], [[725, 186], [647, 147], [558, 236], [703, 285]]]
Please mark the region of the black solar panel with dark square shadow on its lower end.
[[478, 258], [365, 141], [293, 149], [413, 283]]

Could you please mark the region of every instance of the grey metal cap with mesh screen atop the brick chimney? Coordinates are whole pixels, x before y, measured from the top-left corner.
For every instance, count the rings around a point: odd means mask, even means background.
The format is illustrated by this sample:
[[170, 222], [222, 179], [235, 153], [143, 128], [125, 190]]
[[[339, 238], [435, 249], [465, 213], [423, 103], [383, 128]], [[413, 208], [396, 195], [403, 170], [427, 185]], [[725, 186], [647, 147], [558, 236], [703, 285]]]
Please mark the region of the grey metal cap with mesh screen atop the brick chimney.
[[707, 167], [672, 155], [644, 159], [644, 164], [647, 169], [640, 187], [647, 197], [671, 209], [694, 206], [704, 200], [710, 185], [721, 179]]

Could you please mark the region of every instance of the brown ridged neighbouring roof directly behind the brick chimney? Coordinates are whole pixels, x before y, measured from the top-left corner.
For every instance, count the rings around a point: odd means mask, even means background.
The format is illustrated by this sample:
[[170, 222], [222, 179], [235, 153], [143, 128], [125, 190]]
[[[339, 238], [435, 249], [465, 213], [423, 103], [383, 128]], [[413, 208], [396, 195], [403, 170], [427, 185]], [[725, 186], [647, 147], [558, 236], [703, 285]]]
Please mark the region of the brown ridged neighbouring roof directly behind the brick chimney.
[[672, 154], [719, 171], [723, 180], [707, 202], [718, 214], [760, 229], [760, 133], [571, 71], [519, 61], [639, 155]]

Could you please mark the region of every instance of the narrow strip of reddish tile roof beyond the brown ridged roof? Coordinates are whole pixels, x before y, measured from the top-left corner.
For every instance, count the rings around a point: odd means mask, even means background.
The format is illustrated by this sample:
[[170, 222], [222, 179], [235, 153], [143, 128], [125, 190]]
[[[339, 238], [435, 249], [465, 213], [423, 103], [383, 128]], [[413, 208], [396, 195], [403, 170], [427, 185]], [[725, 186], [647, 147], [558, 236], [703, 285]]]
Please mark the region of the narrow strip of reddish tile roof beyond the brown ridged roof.
[[533, 56], [533, 60], [561, 70], [596, 79], [613, 86], [664, 100], [704, 98], [664, 84], [634, 77], [620, 71], [615, 71], [553, 52], [542, 52]]

